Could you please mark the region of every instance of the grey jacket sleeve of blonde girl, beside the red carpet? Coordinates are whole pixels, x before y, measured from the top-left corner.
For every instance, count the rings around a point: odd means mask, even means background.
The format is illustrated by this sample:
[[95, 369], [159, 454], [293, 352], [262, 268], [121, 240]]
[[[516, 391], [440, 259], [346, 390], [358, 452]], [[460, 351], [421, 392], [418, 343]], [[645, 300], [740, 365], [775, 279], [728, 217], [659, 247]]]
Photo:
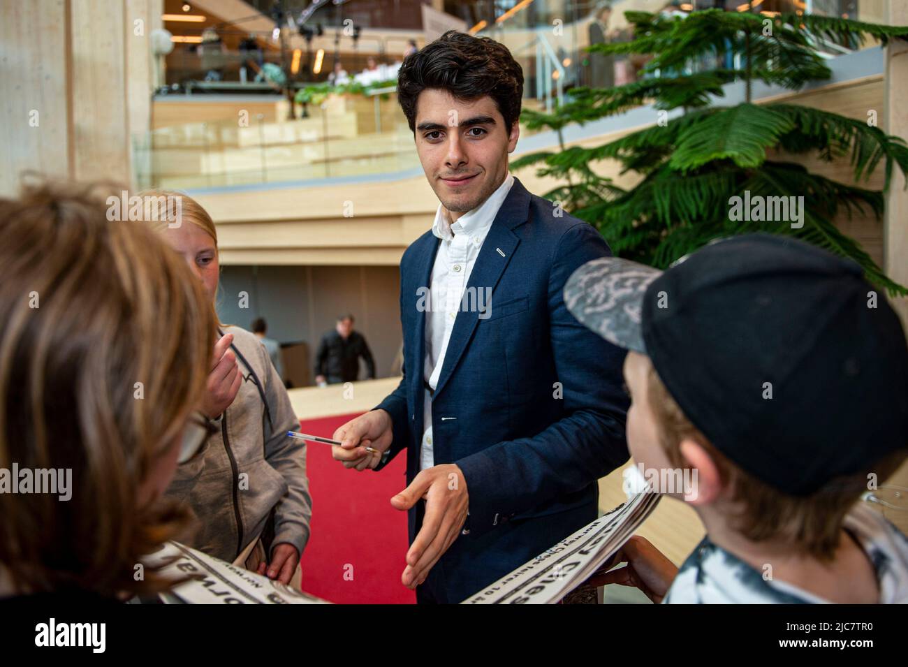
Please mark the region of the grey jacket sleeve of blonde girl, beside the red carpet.
[[299, 432], [300, 420], [293, 412], [287, 389], [278, 377], [277, 370], [268, 358], [264, 361], [264, 368], [268, 368], [268, 375], [264, 379], [265, 397], [268, 399], [274, 425], [265, 442], [265, 460], [287, 482], [287, 493], [274, 506], [272, 544], [287, 542], [302, 555], [302, 550], [309, 541], [312, 518], [312, 498], [309, 493], [309, 477], [306, 476], [306, 443], [287, 437], [287, 431]]

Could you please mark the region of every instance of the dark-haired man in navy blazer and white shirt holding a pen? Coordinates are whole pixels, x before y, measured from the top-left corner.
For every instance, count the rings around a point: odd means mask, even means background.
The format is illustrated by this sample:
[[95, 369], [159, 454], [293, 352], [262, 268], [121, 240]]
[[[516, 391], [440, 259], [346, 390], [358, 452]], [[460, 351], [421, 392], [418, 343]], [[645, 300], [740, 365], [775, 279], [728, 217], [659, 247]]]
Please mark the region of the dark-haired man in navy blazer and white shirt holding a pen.
[[439, 211], [400, 260], [404, 378], [335, 432], [333, 456], [380, 470], [407, 451], [391, 504], [408, 511], [401, 580], [419, 603], [459, 603], [593, 521], [597, 479], [628, 458], [624, 353], [562, 298], [611, 252], [508, 174], [522, 89], [507, 48], [454, 31], [400, 69]]

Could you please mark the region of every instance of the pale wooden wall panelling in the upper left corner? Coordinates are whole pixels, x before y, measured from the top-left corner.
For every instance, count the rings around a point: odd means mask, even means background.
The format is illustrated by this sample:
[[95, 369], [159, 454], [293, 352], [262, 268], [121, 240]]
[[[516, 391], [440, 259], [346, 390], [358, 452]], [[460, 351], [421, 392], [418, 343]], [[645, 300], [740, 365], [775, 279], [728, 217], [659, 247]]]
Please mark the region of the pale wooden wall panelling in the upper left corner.
[[[26, 170], [132, 177], [131, 135], [150, 122], [149, 37], [163, 0], [30, 0], [0, 21], [0, 193]], [[142, 34], [135, 34], [142, 19]], [[37, 113], [37, 126], [29, 123]]]

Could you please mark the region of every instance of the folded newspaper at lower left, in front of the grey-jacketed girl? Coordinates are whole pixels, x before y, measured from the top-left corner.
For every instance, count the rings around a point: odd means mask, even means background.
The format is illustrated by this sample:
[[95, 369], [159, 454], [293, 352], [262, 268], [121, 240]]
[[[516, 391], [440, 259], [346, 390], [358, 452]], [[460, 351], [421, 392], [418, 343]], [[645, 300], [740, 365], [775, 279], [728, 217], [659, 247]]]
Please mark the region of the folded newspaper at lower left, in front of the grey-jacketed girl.
[[[144, 559], [146, 567], [163, 567], [161, 574], [170, 578], [192, 577], [158, 597], [167, 604], [328, 604], [307, 593], [202, 554], [185, 544], [168, 542]], [[138, 602], [133, 598], [134, 602]]]

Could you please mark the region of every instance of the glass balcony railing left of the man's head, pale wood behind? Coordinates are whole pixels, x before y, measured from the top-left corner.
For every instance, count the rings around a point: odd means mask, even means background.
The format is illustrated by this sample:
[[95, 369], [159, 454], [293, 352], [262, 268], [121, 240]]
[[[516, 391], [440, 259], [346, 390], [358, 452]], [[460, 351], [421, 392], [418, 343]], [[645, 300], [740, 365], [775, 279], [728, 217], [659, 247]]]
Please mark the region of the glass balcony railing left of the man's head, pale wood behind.
[[388, 94], [330, 97], [294, 120], [278, 111], [158, 128], [133, 139], [136, 178], [183, 190], [406, 171], [419, 160], [396, 104]]

